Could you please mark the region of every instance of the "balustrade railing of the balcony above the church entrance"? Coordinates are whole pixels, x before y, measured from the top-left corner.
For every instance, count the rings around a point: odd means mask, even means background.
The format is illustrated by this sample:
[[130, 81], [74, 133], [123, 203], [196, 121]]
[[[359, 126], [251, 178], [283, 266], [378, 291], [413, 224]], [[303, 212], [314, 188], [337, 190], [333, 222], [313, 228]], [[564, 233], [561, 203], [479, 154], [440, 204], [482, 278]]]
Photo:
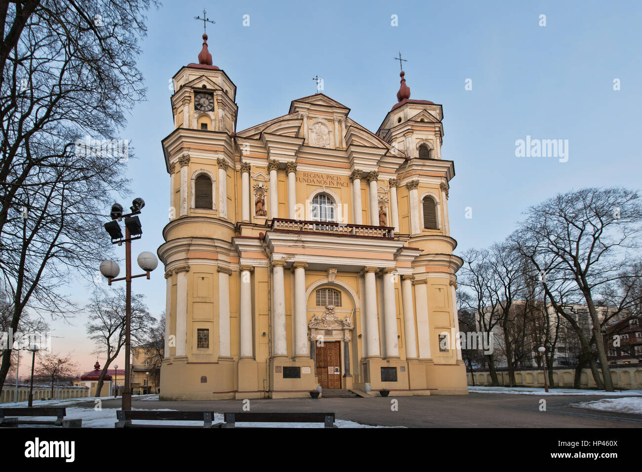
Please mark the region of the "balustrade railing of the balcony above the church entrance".
[[369, 226], [368, 224], [343, 224], [329, 221], [305, 221], [275, 218], [273, 231], [287, 233], [322, 233], [335, 236], [392, 239], [394, 228], [391, 226]]

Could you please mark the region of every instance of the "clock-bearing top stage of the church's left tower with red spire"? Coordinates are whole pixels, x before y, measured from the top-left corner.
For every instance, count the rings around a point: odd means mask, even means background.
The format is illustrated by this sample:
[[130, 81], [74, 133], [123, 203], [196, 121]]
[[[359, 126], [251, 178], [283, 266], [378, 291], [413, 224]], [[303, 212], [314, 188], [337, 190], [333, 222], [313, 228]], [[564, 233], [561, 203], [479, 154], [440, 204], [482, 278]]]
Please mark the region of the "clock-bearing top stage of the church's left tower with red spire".
[[175, 129], [234, 134], [238, 112], [234, 103], [236, 85], [224, 71], [212, 64], [205, 33], [198, 63], [182, 67], [172, 81], [174, 94], [171, 96], [171, 107]]

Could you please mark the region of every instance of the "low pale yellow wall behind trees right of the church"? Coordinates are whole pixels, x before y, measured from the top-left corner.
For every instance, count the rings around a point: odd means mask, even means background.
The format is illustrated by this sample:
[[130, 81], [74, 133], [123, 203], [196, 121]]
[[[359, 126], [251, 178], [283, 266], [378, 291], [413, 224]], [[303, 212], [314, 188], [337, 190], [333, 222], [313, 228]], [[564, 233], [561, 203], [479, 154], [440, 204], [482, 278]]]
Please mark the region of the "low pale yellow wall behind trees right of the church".
[[[599, 369], [599, 367], [598, 367]], [[600, 371], [601, 373], [602, 371]], [[548, 371], [546, 372], [548, 375]], [[490, 373], [488, 371], [468, 372], [468, 385], [473, 385], [475, 376], [475, 385], [489, 386], [492, 385]], [[642, 389], [642, 367], [611, 367], [611, 378], [613, 387], [619, 390]], [[508, 371], [502, 370], [497, 372], [499, 385], [508, 386]], [[553, 369], [553, 382], [555, 387], [573, 388], [575, 380], [575, 369]], [[517, 385], [524, 387], [544, 387], [544, 373], [541, 369], [528, 369], [515, 371], [515, 382]], [[597, 388], [591, 369], [582, 369], [580, 376], [580, 388], [594, 389]]]

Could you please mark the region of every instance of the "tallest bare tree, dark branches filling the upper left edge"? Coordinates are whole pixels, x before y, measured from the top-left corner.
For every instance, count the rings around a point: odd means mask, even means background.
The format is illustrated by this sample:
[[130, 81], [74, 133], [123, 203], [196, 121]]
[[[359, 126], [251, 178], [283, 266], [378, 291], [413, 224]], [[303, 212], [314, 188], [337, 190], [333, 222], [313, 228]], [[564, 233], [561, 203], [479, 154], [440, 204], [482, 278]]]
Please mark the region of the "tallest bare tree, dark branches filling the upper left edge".
[[[135, 62], [150, 3], [0, 2], [0, 276], [14, 332], [26, 308], [75, 312], [59, 289], [108, 246], [101, 214], [126, 191], [130, 157], [114, 137], [144, 97]], [[10, 364], [4, 351], [0, 391]]]

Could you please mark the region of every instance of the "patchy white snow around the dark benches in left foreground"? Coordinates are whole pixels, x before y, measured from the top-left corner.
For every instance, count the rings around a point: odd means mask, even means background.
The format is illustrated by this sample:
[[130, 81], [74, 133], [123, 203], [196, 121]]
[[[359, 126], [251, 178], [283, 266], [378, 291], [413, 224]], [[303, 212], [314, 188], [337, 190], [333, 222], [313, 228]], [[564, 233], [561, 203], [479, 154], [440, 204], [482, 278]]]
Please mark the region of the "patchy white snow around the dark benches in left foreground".
[[[158, 400], [158, 395], [133, 395], [136, 400], [143, 401], [154, 401]], [[107, 397], [103, 397], [107, 400]], [[44, 400], [44, 401], [34, 401], [33, 406], [56, 406], [56, 407], [65, 407], [66, 408], [66, 419], [82, 419], [83, 428], [114, 428], [114, 423], [116, 423], [116, 411], [119, 409], [116, 408], [103, 408], [96, 410], [96, 407], [92, 408], [81, 408], [81, 407], [66, 407], [69, 403], [76, 403], [78, 401], [88, 401], [94, 400], [94, 398], [65, 398], [61, 400]], [[26, 407], [26, 401], [19, 401], [17, 403], [0, 403], [0, 407]], [[134, 409], [139, 410], [139, 409]], [[175, 411], [172, 409], [157, 409], [157, 411]], [[26, 418], [25, 418], [26, 419]], [[51, 417], [29, 417], [28, 419], [36, 421], [51, 421]], [[223, 414], [215, 413], [213, 418], [213, 423], [223, 423]], [[134, 421], [134, 424], [140, 425], [185, 425], [185, 426], [203, 426], [202, 421]], [[334, 424], [339, 428], [386, 428], [388, 426], [370, 426], [370, 425], [361, 425], [361, 423], [355, 423], [354, 421], [347, 421], [345, 419], [335, 419]], [[255, 428], [323, 428], [323, 423], [241, 423], [236, 422], [238, 426], [249, 426]], [[24, 427], [24, 426], [23, 426]], [[52, 426], [29, 426], [29, 427], [42, 427], [49, 428]]]

